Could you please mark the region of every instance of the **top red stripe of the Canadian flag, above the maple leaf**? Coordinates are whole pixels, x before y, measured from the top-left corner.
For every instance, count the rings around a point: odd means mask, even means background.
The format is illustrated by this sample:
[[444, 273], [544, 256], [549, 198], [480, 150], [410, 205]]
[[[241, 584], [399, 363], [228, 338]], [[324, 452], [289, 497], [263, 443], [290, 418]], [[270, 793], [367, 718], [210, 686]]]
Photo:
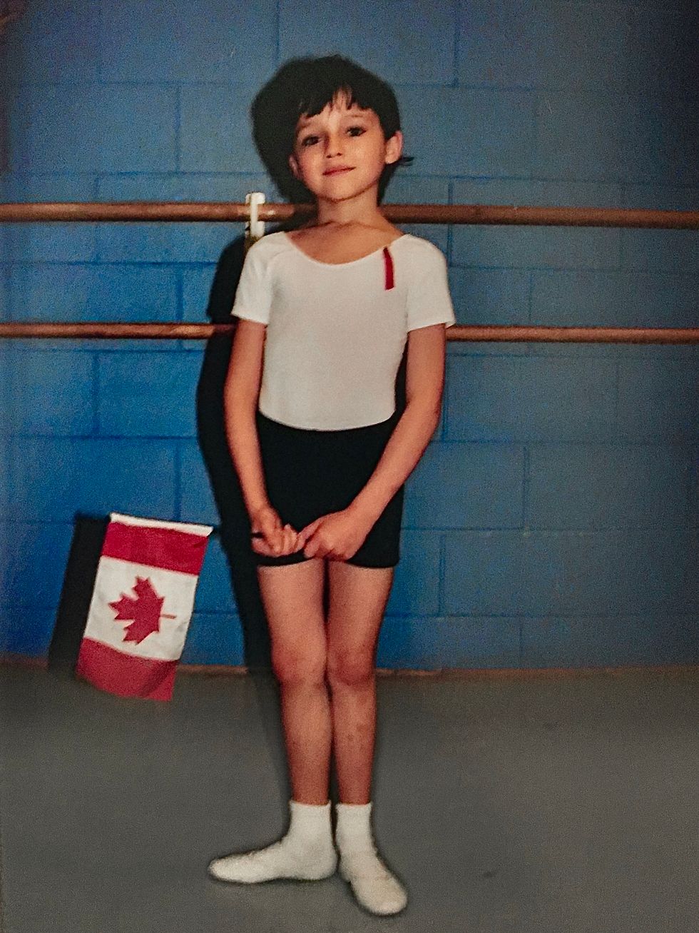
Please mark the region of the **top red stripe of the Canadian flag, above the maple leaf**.
[[102, 553], [104, 557], [197, 576], [206, 544], [205, 536], [191, 532], [112, 521], [107, 525]]

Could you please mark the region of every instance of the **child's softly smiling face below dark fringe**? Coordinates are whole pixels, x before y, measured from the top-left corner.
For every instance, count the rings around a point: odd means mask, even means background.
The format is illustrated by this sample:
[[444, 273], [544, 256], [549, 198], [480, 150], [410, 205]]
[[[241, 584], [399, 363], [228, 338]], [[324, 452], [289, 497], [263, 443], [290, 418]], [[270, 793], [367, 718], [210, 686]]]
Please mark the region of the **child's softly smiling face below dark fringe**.
[[402, 149], [400, 131], [385, 139], [377, 114], [357, 104], [348, 108], [343, 95], [298, 120], [289, 165], [317, 199], [346, 201], [378, 188], [384, 166], [400, 159]]

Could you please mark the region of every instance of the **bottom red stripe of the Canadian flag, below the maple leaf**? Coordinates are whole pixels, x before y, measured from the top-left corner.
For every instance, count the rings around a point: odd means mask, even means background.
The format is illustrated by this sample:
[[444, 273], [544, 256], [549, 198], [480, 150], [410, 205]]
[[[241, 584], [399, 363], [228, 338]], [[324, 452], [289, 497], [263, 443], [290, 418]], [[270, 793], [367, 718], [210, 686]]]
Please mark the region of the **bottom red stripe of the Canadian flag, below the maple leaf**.
[[177, 661], [156, 661], [124, 654], [92, 638], [83, 638], [75, 674], [93, 687], [120, 697], [171, 700]]

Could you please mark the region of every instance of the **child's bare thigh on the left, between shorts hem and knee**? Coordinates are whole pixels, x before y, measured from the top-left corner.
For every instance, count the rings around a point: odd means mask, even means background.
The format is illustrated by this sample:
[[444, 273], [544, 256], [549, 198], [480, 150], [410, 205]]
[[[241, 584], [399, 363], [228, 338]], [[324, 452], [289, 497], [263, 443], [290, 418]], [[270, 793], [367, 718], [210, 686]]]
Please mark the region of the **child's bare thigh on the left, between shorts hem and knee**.
[[257, 567], [272, 651], [324, 663], [324, 561]]

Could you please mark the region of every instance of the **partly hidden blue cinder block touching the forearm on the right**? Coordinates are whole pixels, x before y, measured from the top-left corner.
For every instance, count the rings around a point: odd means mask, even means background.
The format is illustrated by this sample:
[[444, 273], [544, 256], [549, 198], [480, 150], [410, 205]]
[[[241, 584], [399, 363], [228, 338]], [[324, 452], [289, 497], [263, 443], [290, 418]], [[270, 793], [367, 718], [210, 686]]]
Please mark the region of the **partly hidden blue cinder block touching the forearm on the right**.
[[510, 444], [429, 444], [405, 488], [404, 527], [519, 527], [524, 452]]

